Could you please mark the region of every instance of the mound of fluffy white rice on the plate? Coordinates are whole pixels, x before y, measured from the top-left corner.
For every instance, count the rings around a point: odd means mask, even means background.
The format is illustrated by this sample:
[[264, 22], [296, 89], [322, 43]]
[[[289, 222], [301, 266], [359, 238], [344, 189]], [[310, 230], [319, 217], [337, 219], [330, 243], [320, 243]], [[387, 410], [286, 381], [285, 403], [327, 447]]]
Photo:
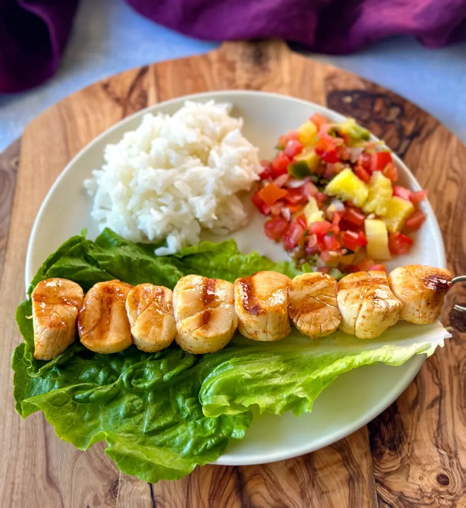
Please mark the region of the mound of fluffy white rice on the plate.
[[202, 229], [225, 234], [246, 223], [236, 194], [261, 171], [231, 104], [186, 101], [173, 116], [146, 114], [136, 131], [107, 145], [105, 164], [84, 181], [99, 227], [131, 241], [167, 239], [159, 256], [196, 245]]

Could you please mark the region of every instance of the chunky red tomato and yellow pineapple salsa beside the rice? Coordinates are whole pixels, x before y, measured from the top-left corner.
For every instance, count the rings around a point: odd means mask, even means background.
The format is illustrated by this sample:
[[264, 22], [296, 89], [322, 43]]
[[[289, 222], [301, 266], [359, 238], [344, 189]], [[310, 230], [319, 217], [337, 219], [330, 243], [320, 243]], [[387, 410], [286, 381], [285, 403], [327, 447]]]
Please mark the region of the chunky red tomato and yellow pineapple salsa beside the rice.
[[314, 113], [276, 148], [251, 200], [270, 217], [265, 234], [297, 264], [339, 278], [385, 270], [383, 261], [410, 250], [426, 191], [396, 185], [391, 152], [352, 118], [330, 123]]

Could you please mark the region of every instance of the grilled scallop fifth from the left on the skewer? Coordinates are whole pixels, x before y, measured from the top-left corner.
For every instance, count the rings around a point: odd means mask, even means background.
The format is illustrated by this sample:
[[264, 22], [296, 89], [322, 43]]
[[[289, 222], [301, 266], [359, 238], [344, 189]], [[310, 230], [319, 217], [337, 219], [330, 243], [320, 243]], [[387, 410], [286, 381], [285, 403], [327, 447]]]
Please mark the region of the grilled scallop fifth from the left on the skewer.
[[235, 281], [239, 332], [252, 340], [278, 340], [290, 333], [288, 286], [277, 272], [257, 272]]

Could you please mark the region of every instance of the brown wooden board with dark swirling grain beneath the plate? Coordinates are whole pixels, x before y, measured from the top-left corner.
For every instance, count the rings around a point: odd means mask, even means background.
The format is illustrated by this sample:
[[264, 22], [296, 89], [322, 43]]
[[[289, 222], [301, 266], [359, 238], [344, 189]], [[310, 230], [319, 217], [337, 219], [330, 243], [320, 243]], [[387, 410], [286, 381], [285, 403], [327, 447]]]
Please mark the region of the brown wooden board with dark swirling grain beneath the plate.
[[[21, 339], [13, 316], [24, 297], [29, 233], [55, 178], [95, 136], [141, 108], [187, 93], [238, 88], [323, 104], [383, 138], [429, 190], [450, 268], [466, 273], [466, 148], [435, 118], [380, 86], [291, 52], [282, 42], [235, 42], [72, 94], [32, 121], [21, 142], [0, 158], [0, 274], [11, 215], [0, 288], [2, 506], [466, 506], [466, 335], [458, 331], [395, 403], [346, 439], [273, 464], [197, 468], [178, 482], [149, 485], [127, 477], [102, 443], [78, 451], [55, 436], [42, 414], [22, 422], [15, 413], [10, 357]], [[464, 321], [451, 308], [465, 294], [455, 288], [443, 316], [444, 324], [463, 332]]]

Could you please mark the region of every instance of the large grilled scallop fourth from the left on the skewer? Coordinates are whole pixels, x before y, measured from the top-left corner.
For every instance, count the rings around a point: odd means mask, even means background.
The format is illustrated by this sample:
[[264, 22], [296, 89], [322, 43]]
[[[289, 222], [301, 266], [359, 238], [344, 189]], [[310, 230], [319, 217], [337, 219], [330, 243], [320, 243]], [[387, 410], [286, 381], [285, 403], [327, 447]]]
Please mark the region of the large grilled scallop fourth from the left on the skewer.
[[233, 284], [200, 275], [182, 277], [173, 290], [176, 342], [189, 353], [215, 353], [238, 325]]

